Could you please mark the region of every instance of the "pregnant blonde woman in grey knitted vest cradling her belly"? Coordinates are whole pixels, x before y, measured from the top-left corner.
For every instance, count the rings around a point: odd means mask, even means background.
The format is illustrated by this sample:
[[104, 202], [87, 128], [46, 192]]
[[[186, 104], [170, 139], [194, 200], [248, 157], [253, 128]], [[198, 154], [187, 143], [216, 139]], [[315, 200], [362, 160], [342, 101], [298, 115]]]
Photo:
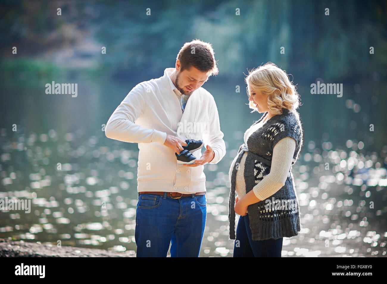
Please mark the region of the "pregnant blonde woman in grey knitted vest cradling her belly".
[[[245, 132], [229, 171], [233, 257], [281, 257], [283, 237], [300, 231], [291, 172], [303, 144], [295, 110], [299, 95], [285, 71], [273, 63], [250, 71], [245, 81], [250, 108], [264, 114]], [[235, 213], [240, 214], [236, 236]]]

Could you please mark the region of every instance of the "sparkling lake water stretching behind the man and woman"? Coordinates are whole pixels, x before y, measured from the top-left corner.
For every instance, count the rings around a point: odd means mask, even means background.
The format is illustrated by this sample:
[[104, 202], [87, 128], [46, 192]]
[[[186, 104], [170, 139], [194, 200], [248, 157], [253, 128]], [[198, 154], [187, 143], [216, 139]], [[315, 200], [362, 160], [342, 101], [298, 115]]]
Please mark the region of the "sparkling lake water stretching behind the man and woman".
[[[101, 129], [138, 82], [74, 76], [67, 82], [79, 82], [76, 98], [45, 94], [50, 80], [30, 80], [28, 73], [5, 87], [0, 197], [31, 199], [32, 208], [29, 214], [1, 211], [0, 238], [53, 245], [60, 240], [135, 255], [137, 144], [113, 141]], [[250, 114], [245, 105], [243, 78], [211, 78], [203, 87], [216, 100], [227, 153], [205, 166], [207, 223], [200, 256], [231, 257], [228, 170], [243, 133], [262, 114]], [[370, 122], [384, 117], [372, 107], [385, 99], [356, 99], [356, 92], [340, 99], [313, 97], [307, 83], [299, 91], [305, 134], [293, 175], [301, 231], [284, 238], [283, 256], [385, 256], [387, 146], [380, 128], [368, 131]]]

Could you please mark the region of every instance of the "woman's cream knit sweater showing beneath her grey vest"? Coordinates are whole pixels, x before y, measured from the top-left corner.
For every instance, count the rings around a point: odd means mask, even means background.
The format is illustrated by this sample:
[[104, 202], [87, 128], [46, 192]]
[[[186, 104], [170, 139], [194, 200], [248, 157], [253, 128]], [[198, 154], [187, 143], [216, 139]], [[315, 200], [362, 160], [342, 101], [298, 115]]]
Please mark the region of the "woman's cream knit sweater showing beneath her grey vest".
[[[244, 134], [244, 141], [247, 145], [248, 137], [260, 128], [265, 122], [266, 119], [261, 122], [250, 126]], [[296, 149], [296, 141], [291, 137], [285, 137], [281, 139], [276, 146], [273, 148], [273, 156], [271, 162], [270, 173], [267, 174], [257, 185], [253, 187], [253, 192], [260, 200], [265, 200], [268, 197], [275, 194], [281, 187], [285, 185], [285, 181], [288, 178], [291, 163], [293, 160], [294, 151]], [[243, 173], [245, 170], [245, 160], [247, 152], [245, 152], [241, 158], [240, 165], [236, 172], [236, 184], [235, 192], [239, 198], [242, 198], [246, 194], [246, 185]], [[235, 159], [230, 167], [229, 176], [231, 177], [231, 170], [235, 164]]]

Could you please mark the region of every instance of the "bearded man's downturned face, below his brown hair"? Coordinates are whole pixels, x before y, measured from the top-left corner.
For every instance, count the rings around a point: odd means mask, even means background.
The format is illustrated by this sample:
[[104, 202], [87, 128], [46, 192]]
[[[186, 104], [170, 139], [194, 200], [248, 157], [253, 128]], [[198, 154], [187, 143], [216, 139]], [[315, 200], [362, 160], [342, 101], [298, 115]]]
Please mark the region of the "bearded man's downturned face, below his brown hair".
[[209, 76], [206, 75], [206, 73], [207, 72], [202, 72], [193, 66], [190, 66], [189, 69], [183, 71], [179, 70], [176, 74], [176, 88], [183, 95], [191, 95], [194, 90], [202, 87], [204, 82], [208, 80]]

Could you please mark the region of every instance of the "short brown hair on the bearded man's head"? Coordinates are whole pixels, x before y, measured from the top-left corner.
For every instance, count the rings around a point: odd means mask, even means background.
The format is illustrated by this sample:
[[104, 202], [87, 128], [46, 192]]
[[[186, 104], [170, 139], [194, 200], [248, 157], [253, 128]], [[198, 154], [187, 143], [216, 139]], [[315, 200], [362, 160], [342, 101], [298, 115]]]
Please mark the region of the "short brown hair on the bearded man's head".
[[197, 70], [207, 72], [207, 75], [217, 75], [219, 70], [216, 66], [214, 49], [211, 44], [195, 39], [185, 43], [177, 54], [176, 60], [180, 60], [181, 69], [188, 70], [194, 66]]

